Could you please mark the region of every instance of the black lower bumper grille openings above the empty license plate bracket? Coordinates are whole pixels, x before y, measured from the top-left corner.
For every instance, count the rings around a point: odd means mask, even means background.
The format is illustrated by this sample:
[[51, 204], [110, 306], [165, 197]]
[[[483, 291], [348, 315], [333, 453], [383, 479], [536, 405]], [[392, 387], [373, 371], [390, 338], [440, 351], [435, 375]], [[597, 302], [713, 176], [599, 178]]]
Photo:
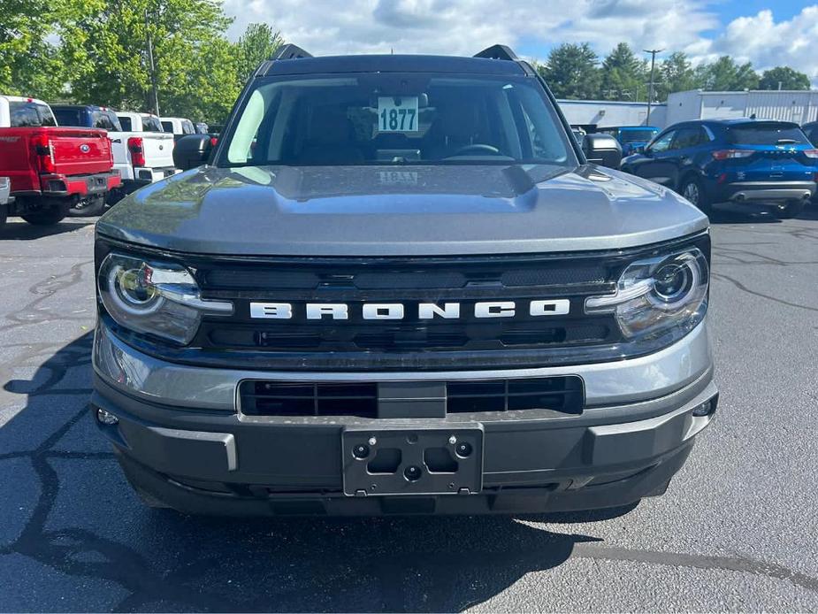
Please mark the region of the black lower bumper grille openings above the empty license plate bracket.
[[[446, 381], [445, 386], [445, 413], [549, 410], [579, 414], [583, 410], [583, 383], [572, 375], [523, 380], [452, 380]], [[239, 400], [241, 413], [248, 416], [378, 418], [378, 388], [378, 382], [245, 380], [239, 385]], [[395, 418], [394, 412], [389, 418]], [[401, 418], [413, 418], [411, 403]]]

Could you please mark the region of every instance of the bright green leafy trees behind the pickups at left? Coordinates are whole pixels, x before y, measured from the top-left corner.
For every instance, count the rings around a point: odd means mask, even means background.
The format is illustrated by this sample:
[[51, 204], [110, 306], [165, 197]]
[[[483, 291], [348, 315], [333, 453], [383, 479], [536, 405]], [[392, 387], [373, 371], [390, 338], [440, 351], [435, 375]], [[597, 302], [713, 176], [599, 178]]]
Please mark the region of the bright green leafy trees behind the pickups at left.
[[[224, 123], [258, 58], [281, 44], [252, 24], [226, 39], [220, 0], [0, 0], [0, 92]], [[54, 44], [52, 41], [56, 41]]]

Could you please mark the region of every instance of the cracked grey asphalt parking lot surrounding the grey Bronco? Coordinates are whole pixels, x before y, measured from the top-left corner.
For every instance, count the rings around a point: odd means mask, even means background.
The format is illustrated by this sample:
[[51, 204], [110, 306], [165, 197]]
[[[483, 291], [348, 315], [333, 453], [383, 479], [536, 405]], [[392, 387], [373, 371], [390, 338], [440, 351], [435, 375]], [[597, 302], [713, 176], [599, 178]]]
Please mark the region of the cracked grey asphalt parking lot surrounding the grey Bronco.
[[86, 409], [93, 219], [11, 220], [0, 610], [818, 610], [818, 208], [713, 235], [722, 400], [667, 495], [584, 517], [246, 520], [126, 487]]

